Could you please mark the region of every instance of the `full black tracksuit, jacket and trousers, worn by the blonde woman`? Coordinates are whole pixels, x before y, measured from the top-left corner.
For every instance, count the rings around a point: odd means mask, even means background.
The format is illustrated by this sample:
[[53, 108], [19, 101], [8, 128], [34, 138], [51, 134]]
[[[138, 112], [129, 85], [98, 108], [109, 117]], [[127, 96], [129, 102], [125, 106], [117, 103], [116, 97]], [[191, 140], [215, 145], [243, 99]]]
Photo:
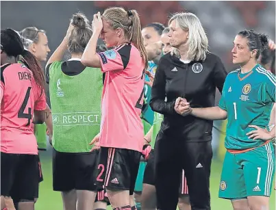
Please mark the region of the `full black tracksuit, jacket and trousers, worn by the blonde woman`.
[[[155, 142], [158, 209], [176, 208], [182, 169], [192, 209], [210, 209], [213, 121], [181, 116], [174, 106], [177, 97], [185, 98], [190, 107], [214, 106], [216, 88], [222, 92], [226, 76], [220, 58], [212, 53], [208, 53], [204, 61], [188, 64], [170, 53], [160, 59], [150, 101], [151, 109], [164, 115]], [[170, 180], [166, 187], [165, 180]]]

